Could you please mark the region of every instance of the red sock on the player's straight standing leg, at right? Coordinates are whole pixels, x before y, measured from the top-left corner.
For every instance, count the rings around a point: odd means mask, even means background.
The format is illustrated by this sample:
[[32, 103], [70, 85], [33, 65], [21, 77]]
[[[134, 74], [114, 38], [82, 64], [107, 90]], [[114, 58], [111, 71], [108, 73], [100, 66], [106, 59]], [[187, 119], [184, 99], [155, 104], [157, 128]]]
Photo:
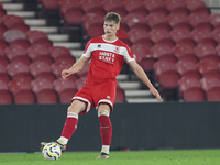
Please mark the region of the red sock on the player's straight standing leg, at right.
[[102, 145], [110, 145], [111, 144], [111, 135], [112, 135], [112, 125], [110, 118], [107, 116], [99, 117], [100, 122], [100, 133]]

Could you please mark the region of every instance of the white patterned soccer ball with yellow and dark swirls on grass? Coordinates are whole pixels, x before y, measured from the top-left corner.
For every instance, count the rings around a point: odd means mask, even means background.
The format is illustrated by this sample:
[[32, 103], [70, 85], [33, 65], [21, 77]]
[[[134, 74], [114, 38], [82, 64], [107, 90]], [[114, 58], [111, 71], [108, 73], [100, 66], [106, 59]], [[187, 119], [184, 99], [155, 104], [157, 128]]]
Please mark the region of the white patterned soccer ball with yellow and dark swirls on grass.
[[62, 156], [62, 150], [56, 143], [47, 143], [42, 150], [44, 160], [58, 160]]

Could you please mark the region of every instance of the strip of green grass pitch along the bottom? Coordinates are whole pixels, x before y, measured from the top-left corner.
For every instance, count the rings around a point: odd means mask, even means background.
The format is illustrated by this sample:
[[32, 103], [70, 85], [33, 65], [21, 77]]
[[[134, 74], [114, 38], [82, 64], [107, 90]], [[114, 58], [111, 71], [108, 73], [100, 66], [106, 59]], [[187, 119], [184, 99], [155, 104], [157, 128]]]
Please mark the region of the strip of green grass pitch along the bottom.
[[109, 160], [96, 160], [99, 152], [66, 152], [58, 161], [41, 153], [0, 154], [0, 165], [219, 165], [220, 150], [173, 150], [111, 152]]

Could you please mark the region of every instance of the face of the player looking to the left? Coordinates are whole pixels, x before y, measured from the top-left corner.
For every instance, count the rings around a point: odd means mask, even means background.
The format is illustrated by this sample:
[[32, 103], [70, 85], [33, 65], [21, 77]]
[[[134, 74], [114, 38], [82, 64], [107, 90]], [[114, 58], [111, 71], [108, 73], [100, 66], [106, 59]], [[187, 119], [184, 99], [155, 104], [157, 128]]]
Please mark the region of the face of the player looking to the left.
[[117, 30], [119, 30], [119, 24], [114, 21], [105, 21], [103, 23], [103, 31], [106, 36], [112, 37], [116, 36]]

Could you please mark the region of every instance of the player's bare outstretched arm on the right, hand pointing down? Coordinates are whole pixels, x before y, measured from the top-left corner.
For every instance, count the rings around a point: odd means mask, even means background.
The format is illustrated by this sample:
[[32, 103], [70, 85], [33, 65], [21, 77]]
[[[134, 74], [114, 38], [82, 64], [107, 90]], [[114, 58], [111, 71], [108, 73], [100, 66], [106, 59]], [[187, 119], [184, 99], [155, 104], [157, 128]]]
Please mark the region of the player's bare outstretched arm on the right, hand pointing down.
[[134, 74], [150, 88], [151, 92], [157, 98], [157, 100], [161, 101], [162, 98], [160, 92], [151, 84], [148, 77], [146, 76], [142, 67], [135, 61], [131, 61], [128, 64], [132, 68]]

